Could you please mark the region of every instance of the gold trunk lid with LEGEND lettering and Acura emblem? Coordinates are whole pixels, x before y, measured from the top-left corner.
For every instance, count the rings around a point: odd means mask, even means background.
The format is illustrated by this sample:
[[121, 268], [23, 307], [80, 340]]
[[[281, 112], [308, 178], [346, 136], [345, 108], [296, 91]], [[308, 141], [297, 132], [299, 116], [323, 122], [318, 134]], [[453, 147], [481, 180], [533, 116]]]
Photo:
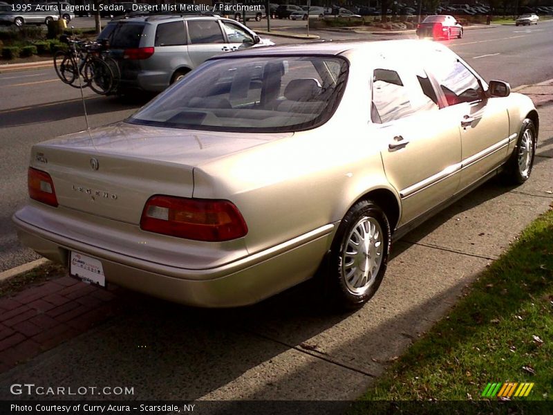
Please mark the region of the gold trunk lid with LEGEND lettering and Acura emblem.
[[31, 166], [50, 174], [60, 206], [140, 223], [155, 194], [191, 197], [194, 167], [236, 151], [290, 136], [214, 133], [120, 122], [32, 148]]

